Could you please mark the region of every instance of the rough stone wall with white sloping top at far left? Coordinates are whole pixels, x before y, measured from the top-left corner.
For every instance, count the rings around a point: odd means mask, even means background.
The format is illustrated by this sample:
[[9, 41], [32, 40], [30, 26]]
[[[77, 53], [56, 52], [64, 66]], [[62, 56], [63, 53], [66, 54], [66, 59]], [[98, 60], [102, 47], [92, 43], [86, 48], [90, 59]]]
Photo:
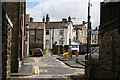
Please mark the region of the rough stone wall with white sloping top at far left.
[[11, 72], [12, 26], [3, 9], [2, 13], [2, 80], [9, 80]]

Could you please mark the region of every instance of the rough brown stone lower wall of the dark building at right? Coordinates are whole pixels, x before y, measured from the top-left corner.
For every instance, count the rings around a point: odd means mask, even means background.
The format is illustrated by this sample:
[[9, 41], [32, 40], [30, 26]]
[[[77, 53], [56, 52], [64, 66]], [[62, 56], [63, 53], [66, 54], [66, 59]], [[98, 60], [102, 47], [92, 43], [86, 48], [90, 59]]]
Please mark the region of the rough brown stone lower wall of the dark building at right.
[[120, 32], [114, 29], [100, 36], [100, 75], [102, 78], [120, 76]]

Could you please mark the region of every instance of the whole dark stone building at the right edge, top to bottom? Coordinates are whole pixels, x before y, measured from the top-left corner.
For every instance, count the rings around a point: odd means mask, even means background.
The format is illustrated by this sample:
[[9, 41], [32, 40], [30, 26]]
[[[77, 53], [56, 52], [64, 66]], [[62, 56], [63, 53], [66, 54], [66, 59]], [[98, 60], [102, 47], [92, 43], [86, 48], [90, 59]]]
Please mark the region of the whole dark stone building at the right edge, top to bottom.
[[120, 2], [102, 2], [100, 19], [100, 78], [120, 80]]

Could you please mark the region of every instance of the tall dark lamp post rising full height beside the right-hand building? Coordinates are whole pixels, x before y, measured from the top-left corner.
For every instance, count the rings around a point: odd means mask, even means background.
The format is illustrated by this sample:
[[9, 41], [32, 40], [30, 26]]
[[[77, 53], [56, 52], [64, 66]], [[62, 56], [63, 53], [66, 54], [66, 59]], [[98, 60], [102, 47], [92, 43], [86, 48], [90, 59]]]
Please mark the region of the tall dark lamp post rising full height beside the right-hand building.
[[[90, 0], [88, 1], [88, 23], [87, 23], [87, 55], [88, 55], [89, 61], [88, 61], [88, 77], [91, 77], [91, 22], [90, 22]], [[90, 78], [91, 79], [91, 78]]]

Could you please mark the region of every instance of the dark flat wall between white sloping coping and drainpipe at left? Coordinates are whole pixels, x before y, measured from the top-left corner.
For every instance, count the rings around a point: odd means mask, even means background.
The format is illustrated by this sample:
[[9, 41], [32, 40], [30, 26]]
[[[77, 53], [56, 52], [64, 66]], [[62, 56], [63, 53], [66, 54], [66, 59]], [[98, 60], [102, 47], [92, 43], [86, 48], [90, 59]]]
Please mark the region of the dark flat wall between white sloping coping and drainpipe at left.
[[14, 27], [12, 33], [12, 54], [11, 54], [11, 71], [18, 72], [18, 53], [19, 53], [19, 7], [18, 2], [5, 2], [5, 11], [11, 19]]

